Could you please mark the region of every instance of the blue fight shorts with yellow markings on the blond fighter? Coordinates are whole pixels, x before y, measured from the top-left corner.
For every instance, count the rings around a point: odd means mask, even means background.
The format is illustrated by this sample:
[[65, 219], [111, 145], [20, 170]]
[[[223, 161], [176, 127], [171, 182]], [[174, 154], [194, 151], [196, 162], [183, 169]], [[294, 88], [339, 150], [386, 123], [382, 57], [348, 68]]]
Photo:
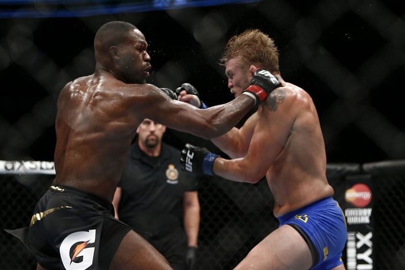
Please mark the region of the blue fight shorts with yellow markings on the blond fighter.
[[314, 202], [277, 218], [290, 225], [307, 242], [312, 254], [311, 269], [332, 269], [343, 264], [342, 251], [347, 227], [342, 209], [332, 197]]

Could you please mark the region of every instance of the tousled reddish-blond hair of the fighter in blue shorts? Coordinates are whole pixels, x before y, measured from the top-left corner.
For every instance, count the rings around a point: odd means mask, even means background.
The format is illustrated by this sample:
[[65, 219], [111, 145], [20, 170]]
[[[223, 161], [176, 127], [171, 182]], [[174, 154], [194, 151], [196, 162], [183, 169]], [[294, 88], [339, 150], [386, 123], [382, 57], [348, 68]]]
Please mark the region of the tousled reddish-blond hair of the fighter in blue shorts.
[[232, 36], [220, 59], [221, 65], [236, 57], [245, 64], [258, 65], [270, 72], [279, 72], [277, 47], [272, 38], [258, 29], [249, 29]]

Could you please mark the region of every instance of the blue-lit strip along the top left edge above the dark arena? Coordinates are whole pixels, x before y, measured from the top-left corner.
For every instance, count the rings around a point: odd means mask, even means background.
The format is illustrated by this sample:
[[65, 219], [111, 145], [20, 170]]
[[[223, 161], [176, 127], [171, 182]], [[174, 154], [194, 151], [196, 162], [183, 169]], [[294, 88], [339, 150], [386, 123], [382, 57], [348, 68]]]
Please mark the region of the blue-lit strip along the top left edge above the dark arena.
[[247, 4], [263, 0], [0, 0], [0, 18], [88, 17], [105, 14]]

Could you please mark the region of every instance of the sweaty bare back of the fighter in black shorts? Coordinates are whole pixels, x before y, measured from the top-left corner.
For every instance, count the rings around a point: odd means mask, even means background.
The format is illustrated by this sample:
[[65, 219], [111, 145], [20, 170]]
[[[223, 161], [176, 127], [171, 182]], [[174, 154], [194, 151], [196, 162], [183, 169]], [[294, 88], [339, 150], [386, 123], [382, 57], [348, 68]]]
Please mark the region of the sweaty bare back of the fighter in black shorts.
[[140, 122], [128, 111], [127, 91], [100, 73], [65, 86], [56, 117], [55, 183], [112, 199]]

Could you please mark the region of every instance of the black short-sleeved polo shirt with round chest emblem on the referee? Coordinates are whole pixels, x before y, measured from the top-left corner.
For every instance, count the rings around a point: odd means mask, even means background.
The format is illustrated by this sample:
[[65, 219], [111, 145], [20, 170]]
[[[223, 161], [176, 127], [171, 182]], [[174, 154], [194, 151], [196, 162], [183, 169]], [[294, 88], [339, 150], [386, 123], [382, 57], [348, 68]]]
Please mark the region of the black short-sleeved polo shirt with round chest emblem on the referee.
[[162, 142], [160, 156], [131, 145], [118, 186], [119, 219], [147, 238], [183, 226], [183, 194], [196, 188], [195, 176], [181, 170], [180, 151]]

